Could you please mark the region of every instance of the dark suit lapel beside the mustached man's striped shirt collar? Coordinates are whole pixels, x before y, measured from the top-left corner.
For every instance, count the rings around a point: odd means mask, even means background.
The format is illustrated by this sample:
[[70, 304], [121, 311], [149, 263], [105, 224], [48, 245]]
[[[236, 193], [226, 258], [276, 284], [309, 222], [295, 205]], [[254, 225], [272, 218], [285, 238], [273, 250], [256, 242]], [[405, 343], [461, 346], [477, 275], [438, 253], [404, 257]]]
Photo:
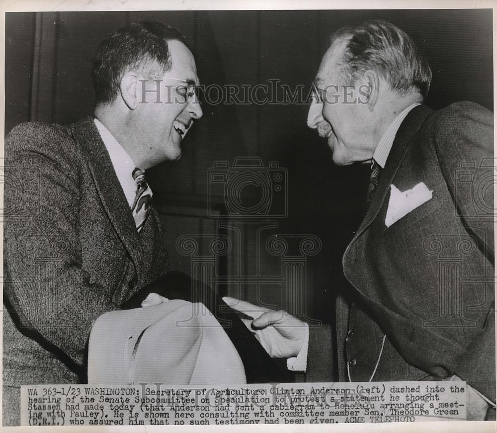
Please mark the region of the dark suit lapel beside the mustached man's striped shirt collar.
[[392, 180], [395, 176], [395, 173], [399, 170], [399, 167], [404, 159], [407, 151], [409, 150], [412, 142], [412, 138], [414, 134], [419, 130], [421, 124], [423, 123], [426, 116], [431, 112], [431, 110], [424, 106], [420, 105], [414, 107], [409, 114], [406, 116], [404, 121], [402, 122], [397, 134], [395, 135], [395, 140], [392, 145], [392, 150], [387, 159], [387, 163], [385, 164], [385, 168], [380, 175], [380, 179], [378, 181], [378, 185], [376, 186], [376, 192], [373, 197], [373, 201], [369, 206], [368, 211], [366, 212], [366, 216], [362, 221], [359, 229], [357, 230], [354, 238], [350, 242], [347, 250], [345, 251], [345, 255], [347, 254], [350, 246], [355, 242], [355, 240], [362, 234], [364, 231], [370, 226], [370, 224], [377, 217], [380, 209], [383, 206], [385, 198], [387, 195], [389, 196], [390, 185], [392, 184]]

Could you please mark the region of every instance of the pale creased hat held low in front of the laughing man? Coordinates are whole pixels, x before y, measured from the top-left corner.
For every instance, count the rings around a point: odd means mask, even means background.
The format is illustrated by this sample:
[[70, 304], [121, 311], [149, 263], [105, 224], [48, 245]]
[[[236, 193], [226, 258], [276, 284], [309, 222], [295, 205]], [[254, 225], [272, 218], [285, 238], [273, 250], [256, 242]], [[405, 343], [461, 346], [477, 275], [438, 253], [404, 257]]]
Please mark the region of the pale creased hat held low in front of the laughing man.
[[88, 383], [237, 385], [242, 360], [203, 304], [172, 300], [111, 311], [91, 329]]

